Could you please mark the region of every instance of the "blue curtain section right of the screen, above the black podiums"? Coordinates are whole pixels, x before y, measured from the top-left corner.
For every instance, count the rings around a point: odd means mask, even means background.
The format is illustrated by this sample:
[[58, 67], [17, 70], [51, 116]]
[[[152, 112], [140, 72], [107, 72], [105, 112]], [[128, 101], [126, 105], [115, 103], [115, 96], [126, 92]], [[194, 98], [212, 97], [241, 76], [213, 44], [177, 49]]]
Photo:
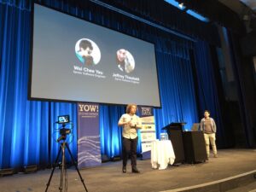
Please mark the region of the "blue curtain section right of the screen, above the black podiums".
[[154, 110], [157, 136], [172, 122], [186, 122], [184, 129], [190, 130], [198, 117], [189, 49], [179, 55], [157, 52], [157, 61], [162, 102], [162, 108]]

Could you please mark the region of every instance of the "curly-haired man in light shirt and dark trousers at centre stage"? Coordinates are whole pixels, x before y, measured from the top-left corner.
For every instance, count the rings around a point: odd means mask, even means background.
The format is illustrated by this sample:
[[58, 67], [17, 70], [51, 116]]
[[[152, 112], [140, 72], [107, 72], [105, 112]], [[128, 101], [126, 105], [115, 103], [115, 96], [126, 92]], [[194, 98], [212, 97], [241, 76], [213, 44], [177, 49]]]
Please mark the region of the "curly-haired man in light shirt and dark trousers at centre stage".
[[126, 113], [119, 119], [119, 126], [123, 126], [123, 172], [126, 172], [128, 155], [131, 153], [131, 172], [139, 173], [137, 170], [137, 129], [142, 128], [140, 118], [135, 114], [137, 105], [129, 104]]

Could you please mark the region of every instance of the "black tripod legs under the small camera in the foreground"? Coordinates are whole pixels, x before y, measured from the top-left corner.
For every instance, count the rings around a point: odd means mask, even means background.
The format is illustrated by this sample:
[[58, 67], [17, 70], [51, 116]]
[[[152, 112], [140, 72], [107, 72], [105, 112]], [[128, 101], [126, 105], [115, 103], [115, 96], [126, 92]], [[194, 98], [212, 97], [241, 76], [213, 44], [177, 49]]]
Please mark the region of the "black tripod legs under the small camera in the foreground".
[[[63, 138], [66, 139], [66, 136], [64, 136]], [[70, 155], [71, 160], [72, 160], [72, 164], [76, 167], [76, 170], [79, 173], [79, 177], [80, 177], [81, 182], [84, 185], [85, 191], [88, 192], [88, 190], [86, 189], [85, 184], [84, 184], [84, 179], [83, 179], [83, 177], [81, 176], [81, 174], [79, 172], [78, 165], [77, 165], [77, 163], [75, 162], [75, 160], [73, 158], [73, 155], [72, 155], [72, 153], [70, 151], [70, 148], [68, 147], [68, 143], [66, 143], [65, 141], [63, 143], [61, 143], [61, 146], [60, 146], [57, 158], [55, 160], [55, 164], [54, 164], [53, 169], [52, 169], [52, 171], [50, 173], [50, 176], [49, 176], [49, 181], [46, 184], [47, 187], [45, 189], [45, 192], [47, 192], [47, 190], [49, 188], [49, 183], [51, 181], [53, 173], [55, 172], [55, 167], [56, 167], [56, 165], [58, 163], [58, 160], [59, 160], [61, 152], [62, 152], [62, 157], [61, 157], [61, 181], [60, 181], [59, 189], [60, 189], [60, 192], [66, 192], [67, 191], [67, 169], [66, 169], [66, 166], [65, 166], [65, 148], [67, 148], [68, 154]]]

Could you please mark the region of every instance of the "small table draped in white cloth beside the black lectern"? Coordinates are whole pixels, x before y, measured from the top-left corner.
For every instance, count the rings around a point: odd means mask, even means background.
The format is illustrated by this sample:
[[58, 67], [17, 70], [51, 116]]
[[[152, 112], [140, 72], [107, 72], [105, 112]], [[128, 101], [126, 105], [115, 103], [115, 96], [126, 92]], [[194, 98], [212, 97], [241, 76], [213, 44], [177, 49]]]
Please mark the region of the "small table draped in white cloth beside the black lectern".
[[173, 164], [175, 154], [170, 140], [152, 142], [151, 148], [151, 165], [152, 168], [159, 170], [166, 169], [168, 164]]

